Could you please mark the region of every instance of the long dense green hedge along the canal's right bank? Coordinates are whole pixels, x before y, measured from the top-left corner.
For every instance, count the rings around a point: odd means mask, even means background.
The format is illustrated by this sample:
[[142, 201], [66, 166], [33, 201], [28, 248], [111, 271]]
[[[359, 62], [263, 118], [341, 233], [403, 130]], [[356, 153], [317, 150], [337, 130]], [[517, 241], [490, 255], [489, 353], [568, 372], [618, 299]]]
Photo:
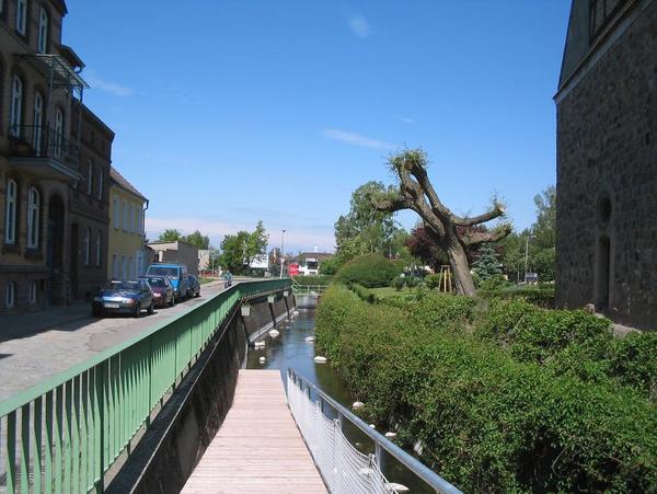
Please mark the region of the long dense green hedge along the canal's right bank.
[[[587, 382], [550, 366], [603, 329], [560, 312], [588, 336], [516, 336], [514, 317], [540, 309], [487, 303], [427, 296], [404, 308], [368, 305], [334, 286], [318, 311], [318, 348], [366, 403], [368, 418], [399, 424], [400, 438], [419, 440], [429, 466], [466, 492], [655, 492], [655, 405], [616, 378]], [[518, 337], [521, 347], [554, 349], [516, 355], [500, 345], [505, 334], [507, 345]], [[633, 352], [647, 357], [648, 340], [620, 340], [616, 361]], [[630, 367], [642, 374], [642, 365]]]

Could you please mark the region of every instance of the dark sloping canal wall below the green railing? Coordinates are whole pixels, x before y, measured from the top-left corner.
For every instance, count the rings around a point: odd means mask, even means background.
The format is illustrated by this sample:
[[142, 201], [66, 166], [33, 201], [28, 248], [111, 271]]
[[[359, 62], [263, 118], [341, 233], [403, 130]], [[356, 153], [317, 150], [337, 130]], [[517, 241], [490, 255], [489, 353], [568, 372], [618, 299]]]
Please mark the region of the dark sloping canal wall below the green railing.
[[[292, 310], [293, 297], [287, 298]], [[251, 301], [251, 314], [238, 308], [216, 342], [183, 379], [126, 464], [110, 493], [177, 493], [221, 426], [234, 395], [238, 372], [246, 357], [247, 337], [287, 317], [286, 299], [276, 295]], [[272, 315], [273, 314], [273, 315]]]

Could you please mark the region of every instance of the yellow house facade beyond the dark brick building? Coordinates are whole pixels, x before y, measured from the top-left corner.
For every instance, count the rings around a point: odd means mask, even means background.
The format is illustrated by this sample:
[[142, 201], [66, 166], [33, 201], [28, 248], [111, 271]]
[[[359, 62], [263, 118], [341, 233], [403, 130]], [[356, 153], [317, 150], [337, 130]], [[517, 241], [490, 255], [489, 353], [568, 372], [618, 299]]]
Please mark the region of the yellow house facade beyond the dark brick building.
[[135, 278], [146, 268], [145, 212], [148, 199], [118, 171], [111, 170], [107, 277]]

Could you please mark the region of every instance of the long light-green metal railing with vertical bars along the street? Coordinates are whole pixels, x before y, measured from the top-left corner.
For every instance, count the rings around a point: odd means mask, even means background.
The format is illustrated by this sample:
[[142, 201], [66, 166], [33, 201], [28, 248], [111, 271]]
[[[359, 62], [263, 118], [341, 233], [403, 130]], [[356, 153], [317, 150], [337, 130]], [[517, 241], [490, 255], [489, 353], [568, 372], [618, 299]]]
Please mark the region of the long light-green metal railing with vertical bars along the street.
[[0, 403], [0, 492], [104, 490], [104, 478], [242, 300], [289, 279], [240, 283]]

